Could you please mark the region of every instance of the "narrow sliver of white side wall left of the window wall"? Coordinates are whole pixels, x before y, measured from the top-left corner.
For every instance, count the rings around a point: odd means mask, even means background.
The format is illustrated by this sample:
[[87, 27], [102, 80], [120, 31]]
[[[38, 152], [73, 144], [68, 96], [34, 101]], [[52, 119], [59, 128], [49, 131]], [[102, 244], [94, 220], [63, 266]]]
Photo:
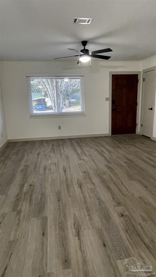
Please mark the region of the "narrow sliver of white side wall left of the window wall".
[[7, 141], [7, 129], [6, 129], [6, 120], [4, 114], [4, 104], [0, 80], [0, 147]]

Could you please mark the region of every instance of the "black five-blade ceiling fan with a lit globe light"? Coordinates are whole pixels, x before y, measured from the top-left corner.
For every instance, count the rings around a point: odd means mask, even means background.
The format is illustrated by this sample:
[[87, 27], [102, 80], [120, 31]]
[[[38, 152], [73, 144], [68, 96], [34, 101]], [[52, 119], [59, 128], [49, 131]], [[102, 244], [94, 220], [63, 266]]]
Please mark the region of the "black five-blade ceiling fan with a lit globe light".
[[90, 57], [92, 57], [92, 58], [98, 58], [98, 59], [102, 59], [102, 60], [109, 60], [111, 58], [109, 56], [96, 55], [96, 54], [111, 52], [111, 51], [113, 51], [112, 49], [105, 48], [105, 49], [95, 50], [95, 51], [89, 52], [88, 49], [85, 49], [85, 46], [87, 45], [87, 41], [83, 40], [83, 41], [81, 41], [81, 43], [82, 43], [82, 46], [84, 47], [84, 49], [82, 49], [80, 51], [68, 48], [68, 50], [72, 50], [72, 51], [74, 51], [76, 53], [79, 53], [79, 55], [68, 56], [68, 57], [61, 57], [61, 58], [55, 58], [54, 60], [56, 60], [56, 59], [62, 59], [62, 58], [69, 58], [69, 57], [80, 57], [79, 61], [77, 62], [77, 64], [78, 64], [80, 62], [84, 62], [85, 63], [85, 62], [89, 61]]

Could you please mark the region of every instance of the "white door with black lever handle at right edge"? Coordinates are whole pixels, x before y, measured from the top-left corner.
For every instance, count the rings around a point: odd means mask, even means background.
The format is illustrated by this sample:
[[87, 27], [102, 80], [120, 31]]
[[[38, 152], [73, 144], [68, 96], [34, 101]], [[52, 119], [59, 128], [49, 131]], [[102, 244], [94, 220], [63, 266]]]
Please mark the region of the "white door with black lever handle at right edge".
[[143, 109], [142, 109], [142, 134], [153, 136], [154, 110], [155, 110], [155, 86], [156, 67], [143, 71]]

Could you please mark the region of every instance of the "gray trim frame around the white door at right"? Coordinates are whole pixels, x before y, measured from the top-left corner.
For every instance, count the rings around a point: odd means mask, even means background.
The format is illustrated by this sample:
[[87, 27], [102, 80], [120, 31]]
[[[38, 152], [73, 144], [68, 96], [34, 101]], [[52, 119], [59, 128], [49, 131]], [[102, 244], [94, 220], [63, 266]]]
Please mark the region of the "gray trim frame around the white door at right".
[[[156, 70], [156, 66], [152, 66], [152, 67], [149, 67], [149, 68], [146, 68], [144, 70], [142, 70], [142, 80], [145, 78], [145, 75], [144, 73], [146, 73], [147, 71], [152, 71], [152, 70]], [[141, 123], [143, 122], [143, 103], [144, 103], [144, 89], [143, 89], [143, 86], [144, 86], [144, 82], [142, 81], [142, 89], [141, 89], [141, 109], [140, 109], [140, 125]], [[155, 95], [155, 103], [154, 103], [154, 108], [156, 111], [156, 95]], [[152, 122], [152, 125], [153, 125], [153, 132], [154, 132], [154, 120], [155, 120], [155, 112], [154, 112], [154, 118], [153, 118], [153, 122]], [[153, 140], [156, 140], [156, 138], [153, 136], [153, 132], [152, 132], [152, 137], [151, 139]], [[140, 127], [140, 133], [142, 134], [142, 127]]]

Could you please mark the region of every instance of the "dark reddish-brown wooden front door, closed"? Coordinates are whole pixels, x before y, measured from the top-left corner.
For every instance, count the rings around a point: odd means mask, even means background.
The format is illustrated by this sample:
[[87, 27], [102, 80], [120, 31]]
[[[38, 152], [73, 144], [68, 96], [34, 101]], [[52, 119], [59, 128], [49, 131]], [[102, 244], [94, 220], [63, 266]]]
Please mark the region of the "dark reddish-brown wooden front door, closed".
[[112, 135], [135, 134], [138, 75], [112, 75]]

